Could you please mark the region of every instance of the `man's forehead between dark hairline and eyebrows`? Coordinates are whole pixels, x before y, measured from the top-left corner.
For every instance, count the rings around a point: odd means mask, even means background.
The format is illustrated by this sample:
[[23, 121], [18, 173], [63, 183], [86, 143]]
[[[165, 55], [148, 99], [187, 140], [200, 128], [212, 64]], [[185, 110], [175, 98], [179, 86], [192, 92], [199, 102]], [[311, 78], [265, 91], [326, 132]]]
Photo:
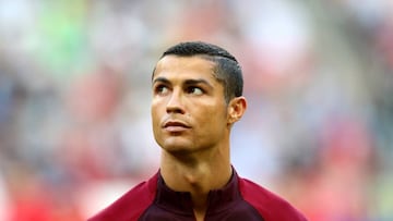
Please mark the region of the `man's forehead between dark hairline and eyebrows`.
[[217, 82], [214, 74], [215, 63], [205, 58], [166, 56], [162, 58], [153, 73], [153, 79], [157, 76], [180, 78], [206, 78]]

